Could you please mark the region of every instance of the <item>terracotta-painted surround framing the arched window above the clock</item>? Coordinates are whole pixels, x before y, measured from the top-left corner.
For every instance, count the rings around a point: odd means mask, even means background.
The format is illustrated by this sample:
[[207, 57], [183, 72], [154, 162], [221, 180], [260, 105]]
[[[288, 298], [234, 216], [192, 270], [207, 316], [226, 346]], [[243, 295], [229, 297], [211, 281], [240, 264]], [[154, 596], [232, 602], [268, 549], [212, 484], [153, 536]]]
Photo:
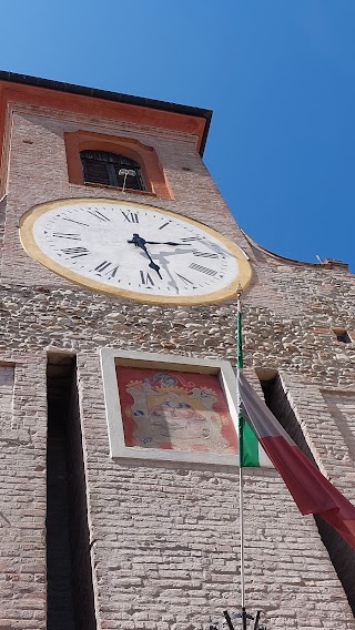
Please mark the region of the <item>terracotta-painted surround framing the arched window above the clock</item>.
[[68, 161], [68, 175], [72, 184], [90, 185], [84, 182], [80, 152], [87, 149], [122, 153], [141, 165], [146, 192], [160, 199], [173, 199], [172, 191], [164, 176], [159, 158], [152, 146], [142, 144], [139, 140], [116, 135], [105, 135], [91, 131], [74, 131], [64, 133]]

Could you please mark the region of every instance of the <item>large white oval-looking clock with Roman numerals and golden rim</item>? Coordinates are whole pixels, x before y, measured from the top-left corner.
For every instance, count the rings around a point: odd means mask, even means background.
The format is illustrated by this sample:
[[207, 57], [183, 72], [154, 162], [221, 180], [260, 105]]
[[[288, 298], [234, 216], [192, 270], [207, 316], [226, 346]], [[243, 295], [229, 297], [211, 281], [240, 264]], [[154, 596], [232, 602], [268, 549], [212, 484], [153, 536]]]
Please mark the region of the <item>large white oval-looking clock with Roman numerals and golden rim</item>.
[[103, 199], [63, 200], [21, 219], [24, 250], [90, 288], [151, 303], [225, 299], [251, 267], [231, 241], [159, 207]]

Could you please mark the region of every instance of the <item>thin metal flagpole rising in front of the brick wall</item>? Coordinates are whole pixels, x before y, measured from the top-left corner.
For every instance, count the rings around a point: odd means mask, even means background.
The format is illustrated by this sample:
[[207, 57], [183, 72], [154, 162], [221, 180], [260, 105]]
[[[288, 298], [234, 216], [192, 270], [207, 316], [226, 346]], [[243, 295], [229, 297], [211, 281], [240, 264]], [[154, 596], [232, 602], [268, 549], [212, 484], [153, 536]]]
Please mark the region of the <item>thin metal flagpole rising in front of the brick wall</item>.
[[240, 396], [240, 372], [243, 368], [243, 343], [242, 343], [242, 287], [236, 293], [236, 405], [239, 425], [239, 450], [240, 450], [240, 539], [241, 539], [241, 603], [243, 630], [246, 630], [245, 612], [245, 575], [244, 575], [244, 497], [243, 497], [243, 417]]

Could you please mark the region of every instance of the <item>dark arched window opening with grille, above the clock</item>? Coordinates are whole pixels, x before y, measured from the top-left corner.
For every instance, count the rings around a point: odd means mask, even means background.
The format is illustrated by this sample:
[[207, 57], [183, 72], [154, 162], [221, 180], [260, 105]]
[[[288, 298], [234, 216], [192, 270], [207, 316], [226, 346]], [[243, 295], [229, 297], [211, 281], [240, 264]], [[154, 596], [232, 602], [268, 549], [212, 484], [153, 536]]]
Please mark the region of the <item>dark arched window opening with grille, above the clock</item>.
[[84, 182], [145, 191], [141, 166], [134, 160], [109, 151], [81, 151]]

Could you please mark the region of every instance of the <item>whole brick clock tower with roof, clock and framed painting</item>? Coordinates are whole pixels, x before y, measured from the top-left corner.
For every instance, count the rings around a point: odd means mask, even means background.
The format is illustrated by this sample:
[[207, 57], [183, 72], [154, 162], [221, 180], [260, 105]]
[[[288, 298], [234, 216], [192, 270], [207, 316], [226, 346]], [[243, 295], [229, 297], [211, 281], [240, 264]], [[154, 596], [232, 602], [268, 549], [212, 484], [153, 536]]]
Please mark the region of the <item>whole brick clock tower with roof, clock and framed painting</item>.
[[[240, 607], [236, 292], [250, 378], [354, 500], [354, 277], [239, 228], [209, 110], [7, 72], [0, 106], [3, 627], [207, 628]], [[267, 628], [355, 628], [346, 545], [274, 469], [245, 504]]]

